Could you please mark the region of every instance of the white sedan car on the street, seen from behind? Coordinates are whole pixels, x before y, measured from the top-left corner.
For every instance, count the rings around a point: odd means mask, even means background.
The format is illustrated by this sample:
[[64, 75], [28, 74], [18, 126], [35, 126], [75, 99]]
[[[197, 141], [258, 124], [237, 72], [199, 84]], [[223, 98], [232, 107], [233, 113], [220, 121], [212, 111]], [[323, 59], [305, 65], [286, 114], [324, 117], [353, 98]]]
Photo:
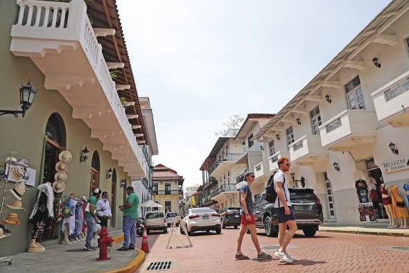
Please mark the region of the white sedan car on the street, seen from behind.
[[182, 219], [180, 224], [180, 233], [184, 234], [184, 229], [189, 236], [195, 231], [216, 231], [216, 234], [222, 232], [220, 224], [220, 215], [211, 208], [193, 208], [189, 209], [185, 218]]

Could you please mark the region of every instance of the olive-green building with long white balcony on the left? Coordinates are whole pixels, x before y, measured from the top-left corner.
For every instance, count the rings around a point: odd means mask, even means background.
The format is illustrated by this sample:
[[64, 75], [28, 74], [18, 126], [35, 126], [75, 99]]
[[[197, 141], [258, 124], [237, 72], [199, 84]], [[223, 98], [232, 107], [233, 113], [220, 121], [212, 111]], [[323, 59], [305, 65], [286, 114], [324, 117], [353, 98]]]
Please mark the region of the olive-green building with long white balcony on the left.
[[[150, 144], [151, 135], [115, 1], [86, 5], [82, 0], [11, 0], [0, 5], [0, 109], [19, 108], [19, 86], [28, 80], [37, 89], [24, 117], [0, 116], [4, 131], [0, 160], [25, 159], [30, 168], [30, 182], [21, 197], [26, 210], [17, 211], [21, 224], [6, 227], [12, 233], [1, 239], [0, 256], [26, 251], [37, 186], [54, 182], [58, 155], [65, 150], [72, 160], [67, 164], [65, 190], [55, 193], [54, 205], [67, 202], [70, 193], [89, 196], [101, 188], [111, 196], [110, 225], [121, 229], [122, 213], [117, 208], [131, 180], [148, 175], [143, 145]], [[5, 189], [4, 182], [0, 186]], [[5, 191], [4, 204], [14, 201], [9, 193]], [[2, 210], [1, 219], [13, 212], [6, 206]], [[60, 225], [58, 218], [47, 224], [43, 245], [60, 243]]]

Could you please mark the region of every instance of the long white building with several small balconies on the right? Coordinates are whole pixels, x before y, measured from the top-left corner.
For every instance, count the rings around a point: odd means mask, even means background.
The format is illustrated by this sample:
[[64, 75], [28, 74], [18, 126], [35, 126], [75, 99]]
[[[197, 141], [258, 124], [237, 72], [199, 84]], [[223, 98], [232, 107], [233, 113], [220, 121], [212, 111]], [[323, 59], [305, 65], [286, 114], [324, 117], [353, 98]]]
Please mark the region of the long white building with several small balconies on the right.
[[315, 189], [326, 221], [388, 222], [383, 183], [408, 206], [408, 26], [409, 2], [391, 1], [254, 136], [268, 159], [256, 173], [290, 157], [293, 186]]

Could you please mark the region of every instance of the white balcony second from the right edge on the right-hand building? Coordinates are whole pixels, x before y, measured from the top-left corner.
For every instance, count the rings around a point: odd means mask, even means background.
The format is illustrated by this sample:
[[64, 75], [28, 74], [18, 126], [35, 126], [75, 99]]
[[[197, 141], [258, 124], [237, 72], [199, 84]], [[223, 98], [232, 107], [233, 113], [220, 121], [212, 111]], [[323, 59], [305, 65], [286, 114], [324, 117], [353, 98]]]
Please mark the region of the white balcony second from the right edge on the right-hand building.
[[348, 137], [374, 136], [377, 127], [375, 112], [345, 110], [320, 125], [322, 147], [338, 143]]

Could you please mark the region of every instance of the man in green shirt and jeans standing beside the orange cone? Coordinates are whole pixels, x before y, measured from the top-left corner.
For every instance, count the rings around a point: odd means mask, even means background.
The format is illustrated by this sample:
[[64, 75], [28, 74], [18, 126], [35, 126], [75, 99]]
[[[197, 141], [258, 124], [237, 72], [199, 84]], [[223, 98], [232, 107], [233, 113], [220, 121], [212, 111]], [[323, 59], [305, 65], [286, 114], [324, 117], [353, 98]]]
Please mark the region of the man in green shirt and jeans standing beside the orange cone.
[[119, 206], [119, 209], [123, 211], [123, 246], [118, 249], [119, 251], [135, 249], [135, 243], [137, 240], [136, 226], [139, 218], [139, 197], [134, 193], [134, 188], [132, 186], [126, 188], [126, 193], [128, 194], [128, 197], [126, 198], [125, 204]]

